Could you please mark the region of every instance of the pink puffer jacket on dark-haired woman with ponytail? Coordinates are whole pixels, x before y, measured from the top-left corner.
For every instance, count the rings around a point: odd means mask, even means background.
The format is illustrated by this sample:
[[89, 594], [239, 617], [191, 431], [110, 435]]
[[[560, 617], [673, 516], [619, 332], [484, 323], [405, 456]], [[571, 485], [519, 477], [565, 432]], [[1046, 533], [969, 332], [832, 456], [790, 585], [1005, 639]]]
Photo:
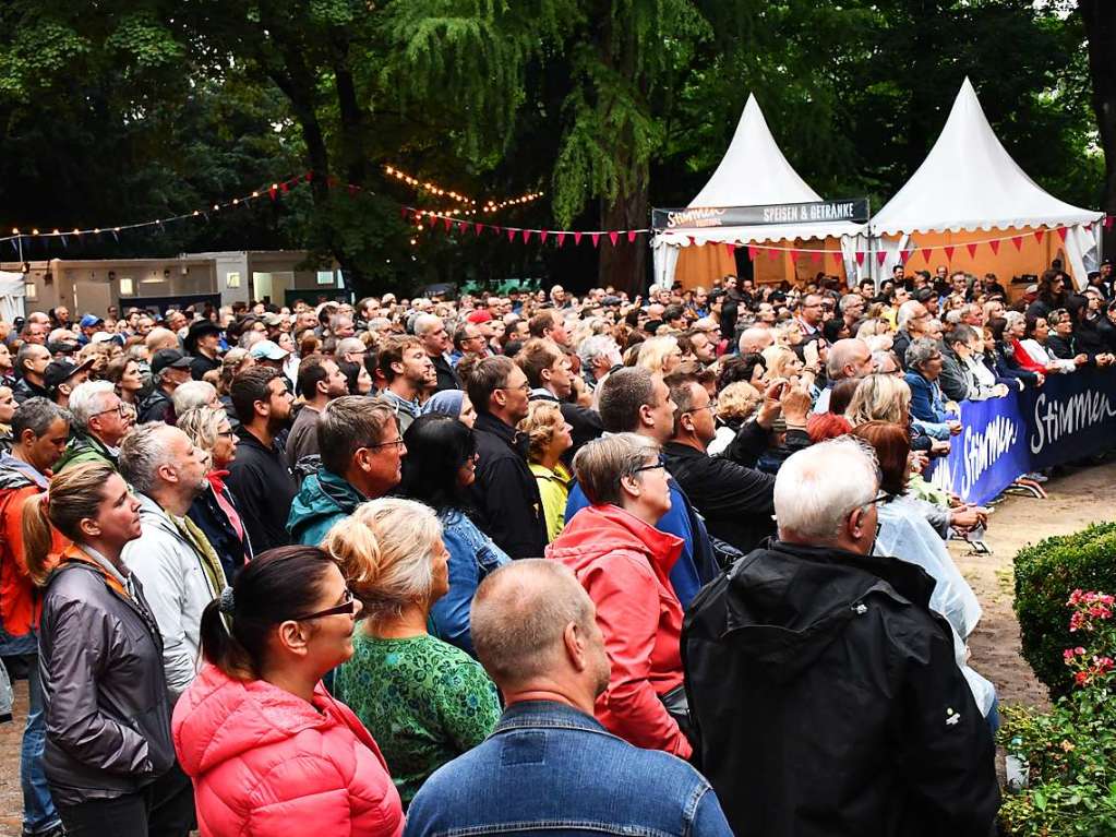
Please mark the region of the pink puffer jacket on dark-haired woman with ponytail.
[[206, 665], [179, 700], [171, 729], [203, 837], [403, 834], [379, 748], [320, 683], [311, 706]]

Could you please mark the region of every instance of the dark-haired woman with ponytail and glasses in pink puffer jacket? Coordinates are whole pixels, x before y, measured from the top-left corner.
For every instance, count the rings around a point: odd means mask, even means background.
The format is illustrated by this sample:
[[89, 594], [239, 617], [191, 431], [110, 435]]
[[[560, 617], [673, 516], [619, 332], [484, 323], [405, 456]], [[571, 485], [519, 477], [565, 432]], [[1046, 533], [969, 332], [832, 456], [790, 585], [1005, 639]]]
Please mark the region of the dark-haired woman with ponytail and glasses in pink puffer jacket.
[[403, 833], [379, 748], [321, 684], [359, 610], [316, 547], [264, 552], [205, 608], [206, 665], [171, 724], [203, 837]]

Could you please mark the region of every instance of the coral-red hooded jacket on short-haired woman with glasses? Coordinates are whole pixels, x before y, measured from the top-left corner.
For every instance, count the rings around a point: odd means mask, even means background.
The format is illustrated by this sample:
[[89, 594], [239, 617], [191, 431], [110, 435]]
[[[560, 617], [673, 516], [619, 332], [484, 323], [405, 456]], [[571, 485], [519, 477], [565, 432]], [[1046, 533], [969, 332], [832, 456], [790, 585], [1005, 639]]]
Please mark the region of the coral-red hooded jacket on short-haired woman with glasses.
[[658, 700], [682, 684], [683, 614], [670, 579], [681, 554], [681, 538], [616, 506], [581, 509], [546, 551], [574, 570], [597, 607], [612, 664], [597, 720], [636, 747], [686, 759], [690, 742]]

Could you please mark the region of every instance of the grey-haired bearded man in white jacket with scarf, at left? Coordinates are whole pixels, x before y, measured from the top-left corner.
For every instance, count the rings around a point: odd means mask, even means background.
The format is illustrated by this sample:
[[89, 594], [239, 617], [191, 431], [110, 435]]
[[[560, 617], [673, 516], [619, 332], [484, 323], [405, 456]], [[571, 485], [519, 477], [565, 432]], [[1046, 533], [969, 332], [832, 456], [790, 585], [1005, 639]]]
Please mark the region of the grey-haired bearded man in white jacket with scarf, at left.
[[143, 424], [121, 444], [121, 475], [140, 501], [142, 529], [122, 557], [140, 578], [158, 623], [172, 699], [198, 672], [202, 610], [225, 586], [220, 558], [186, 517], [194, 498], [209, 488], [209, 462], [205, 451], [169, 424]]

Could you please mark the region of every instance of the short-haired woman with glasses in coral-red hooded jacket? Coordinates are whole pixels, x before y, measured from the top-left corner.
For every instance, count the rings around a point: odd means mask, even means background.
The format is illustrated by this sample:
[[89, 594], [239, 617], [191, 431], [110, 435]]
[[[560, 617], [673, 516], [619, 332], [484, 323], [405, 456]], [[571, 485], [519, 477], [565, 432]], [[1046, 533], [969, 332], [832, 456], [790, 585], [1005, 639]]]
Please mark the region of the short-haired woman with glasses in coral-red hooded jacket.
[[546, 557], [573, 569], [597, 608], [612, 676], [596, 718], [636, 747], [689, 759], [680, 727], [687, 715], [682, 605], [670, 579], [682, 540], [655, 528], [671, 508], [666, 468], [650, 440], [617, 433], [579, 450], [574, 471], [591, 506], [566, 523]]

